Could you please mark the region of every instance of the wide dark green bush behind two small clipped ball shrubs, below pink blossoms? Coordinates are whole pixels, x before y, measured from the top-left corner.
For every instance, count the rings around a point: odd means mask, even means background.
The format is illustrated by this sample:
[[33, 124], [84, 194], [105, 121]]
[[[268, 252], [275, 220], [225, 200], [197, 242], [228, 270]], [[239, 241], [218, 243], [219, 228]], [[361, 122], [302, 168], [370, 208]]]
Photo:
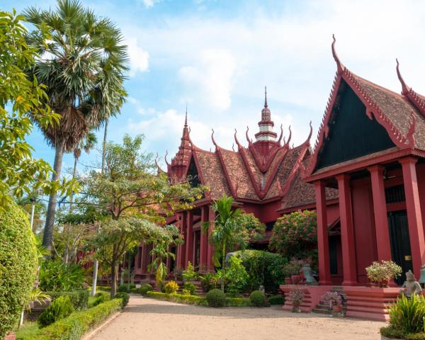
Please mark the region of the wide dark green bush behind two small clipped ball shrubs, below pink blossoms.
[[242, 259], [242, 264], [249, 275], [244, 290], [257, 290], [263, 285], [266, 292], [275, 293], [279, 285], [284, 283], [283, 266], [288, 263], [285, 257], [268, 251], [250, 249], [236, 251], [234, 255]]

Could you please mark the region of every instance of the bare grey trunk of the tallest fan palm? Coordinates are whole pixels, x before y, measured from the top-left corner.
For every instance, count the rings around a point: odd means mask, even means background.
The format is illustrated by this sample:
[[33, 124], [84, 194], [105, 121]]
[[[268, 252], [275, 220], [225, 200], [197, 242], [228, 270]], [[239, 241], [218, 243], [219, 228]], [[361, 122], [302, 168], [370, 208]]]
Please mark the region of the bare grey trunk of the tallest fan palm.
[[[64, 151], [62, 145], [56, 147], [55, 151], [55, 163], [53, 164], [53, 170], [55, 171], [52, 175], [52, 181], [60, 179], [60, 171], [62, 170], [62, 159], [64, 157]], [[42, 245], [48, 251], [52, 250], [52, 237], [53, 237], [53, 225], [55, 223], [57, 203], [57, 192], [54, 191], [50, 194], [49, 204], [47, 205], [46, 212], [46, 223], [44, 234], [42, 235]]]

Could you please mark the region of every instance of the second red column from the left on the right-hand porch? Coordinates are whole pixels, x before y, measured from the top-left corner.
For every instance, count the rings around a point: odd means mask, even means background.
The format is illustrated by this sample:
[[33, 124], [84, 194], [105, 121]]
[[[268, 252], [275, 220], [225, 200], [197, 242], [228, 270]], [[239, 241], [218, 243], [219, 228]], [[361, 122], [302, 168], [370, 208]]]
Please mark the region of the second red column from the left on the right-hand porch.
[[353, 213], [351, 210], [350, 176], [336, 176], [339, 195], [339, 218], [341, 222], [342, 285], [358, 285], [356, 268], [356, 248], [354, 244]]

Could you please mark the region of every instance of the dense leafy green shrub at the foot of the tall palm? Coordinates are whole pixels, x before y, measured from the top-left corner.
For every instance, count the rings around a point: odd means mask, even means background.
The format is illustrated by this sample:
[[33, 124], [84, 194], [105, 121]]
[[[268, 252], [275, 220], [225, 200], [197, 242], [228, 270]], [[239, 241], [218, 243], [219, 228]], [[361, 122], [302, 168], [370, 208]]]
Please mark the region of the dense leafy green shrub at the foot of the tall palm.
[[41, 290], [78, 290], [83, 288], [84, 273], [78, 264], [67, 266], [60, 259], [48, 260], [42, 263], [39, 280]]

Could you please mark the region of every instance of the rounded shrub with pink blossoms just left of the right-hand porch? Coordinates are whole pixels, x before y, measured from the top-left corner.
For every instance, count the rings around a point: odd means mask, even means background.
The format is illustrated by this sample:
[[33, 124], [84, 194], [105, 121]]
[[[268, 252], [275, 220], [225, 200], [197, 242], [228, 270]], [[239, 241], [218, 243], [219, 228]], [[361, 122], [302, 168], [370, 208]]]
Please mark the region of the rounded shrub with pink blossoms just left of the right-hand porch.
[[305, 259], [317, 249], [317, 217], [315, 211], [292, 212], [278, 218], [273, 227], [270, 249], [286, 256]]

